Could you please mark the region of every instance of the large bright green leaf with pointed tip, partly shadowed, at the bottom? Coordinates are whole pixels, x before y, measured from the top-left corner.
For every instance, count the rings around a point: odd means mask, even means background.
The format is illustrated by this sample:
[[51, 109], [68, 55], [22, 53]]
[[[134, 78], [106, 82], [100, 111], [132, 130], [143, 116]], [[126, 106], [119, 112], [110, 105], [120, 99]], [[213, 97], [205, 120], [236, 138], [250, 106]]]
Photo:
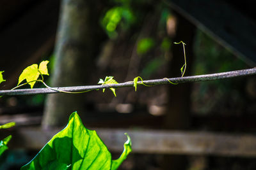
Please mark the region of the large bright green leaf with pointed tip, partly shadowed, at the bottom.
[[[121, 157], [125, 159], [128, 154], [129, 148], [124, 150]], [[122, 158], [120, 162], [124, 160]], [[116, 160], [115, 164], [119, 164], [118, 161]], [[111, 164], [111, 153], [108, 148], [95, 131], [84, 127], [81, 119], [74, 112], [70, 115], [67, 127], [53, 136], [36, 157], [21, 169], [49, 167], [49, 169], [104, 170], [111, 169]]]

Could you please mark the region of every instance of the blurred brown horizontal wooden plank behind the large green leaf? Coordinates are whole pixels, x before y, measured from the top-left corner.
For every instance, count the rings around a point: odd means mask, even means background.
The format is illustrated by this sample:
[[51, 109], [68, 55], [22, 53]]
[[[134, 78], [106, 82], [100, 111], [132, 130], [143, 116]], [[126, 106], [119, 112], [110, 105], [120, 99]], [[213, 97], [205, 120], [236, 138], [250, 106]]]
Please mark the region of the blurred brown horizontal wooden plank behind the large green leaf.
[[[40, 149], [60, 129], [19, 128], [1, 131], [0, 137], [12, 134], [10, 148]], [[256, 157], [256, 136], [250, 134], [220, 134], [214, 132], [184, 132], [161, 130], [96, 129], [111, 152], [122, 152], [127, 132], [132, 139], [133, 153], [185, 155], [221, 155]], [[19, 142], [17, 142], [19, 141]]]

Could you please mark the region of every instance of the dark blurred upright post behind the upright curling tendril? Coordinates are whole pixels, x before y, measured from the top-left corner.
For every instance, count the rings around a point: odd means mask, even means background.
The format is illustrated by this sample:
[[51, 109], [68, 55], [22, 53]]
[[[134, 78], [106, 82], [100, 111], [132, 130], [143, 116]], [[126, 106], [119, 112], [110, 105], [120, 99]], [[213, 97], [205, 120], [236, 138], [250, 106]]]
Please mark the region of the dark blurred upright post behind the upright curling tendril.
[[[193, 62], [193, 38], [195, 26], [185, 18], [177, 15], [177, 32], [174, 41], [186, 43], [187, 68], [185, 75], [191, 72]], [[180, 67], [184, 64], [182, 45], [172, 46], [173, 58], [170, 63], [170, 77], [181, 74]], [[166, 113], [165, 129], [188, 129], [190, 112], [191, 84], [173, 85], [169, 88], [168, 113]], [[166, 155], [163, 159], [163, 169], [186, 169], [186, 157], [182, 155]]]

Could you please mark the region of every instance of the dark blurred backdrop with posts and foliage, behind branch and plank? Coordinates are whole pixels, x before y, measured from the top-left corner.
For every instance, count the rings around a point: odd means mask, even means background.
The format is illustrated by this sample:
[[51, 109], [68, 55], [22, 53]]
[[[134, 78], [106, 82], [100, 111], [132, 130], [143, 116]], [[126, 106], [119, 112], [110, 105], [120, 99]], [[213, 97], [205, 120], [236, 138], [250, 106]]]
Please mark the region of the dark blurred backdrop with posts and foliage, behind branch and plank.
[[[0, 89], [15, 87], [22, 70], [42, 60], [50, 61], [45, 82], [52, 87], [96, 85], [105, 76], [114, 76], [119, 83], [136, 76], [143, 80], [178, 77], [184, 56], [182, 45], [173, 42], [179, 41], [186, 43], [185, 76], [254, 67], [256, 15], [252, 4], [2, 0], [0, 71], [6, 81]], [[14, 121], [17, 126], [0, 132], [1, 139], [13, 135], [10, 149], [1, 156], [0, 169], [19, 169], [39, 151], [29, 146], [36, 141], [33, 136], [25, 139], [28, 136], [22, 136], [20, 129], [61, 128], [72, 111], [77, 111], [90, 129], [253, 135], [255, 85], [255, 76], [250, 76], [138, 87], [137, 92], [122, 88], [116, 90], [117, 97], [110, 90], [104, 94], [99, 90], [76, 95], [3, 96], [0, 124]], [[36, 83], [36, 87], [44, 85]], [[255, 148], [250, 156], [243, 152], [230, 156], [214, 151], [173, 154], [134, 150], [120, 169], [256, 169]], [[113, 157], [119, 154], [113, 151]]]

